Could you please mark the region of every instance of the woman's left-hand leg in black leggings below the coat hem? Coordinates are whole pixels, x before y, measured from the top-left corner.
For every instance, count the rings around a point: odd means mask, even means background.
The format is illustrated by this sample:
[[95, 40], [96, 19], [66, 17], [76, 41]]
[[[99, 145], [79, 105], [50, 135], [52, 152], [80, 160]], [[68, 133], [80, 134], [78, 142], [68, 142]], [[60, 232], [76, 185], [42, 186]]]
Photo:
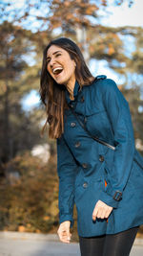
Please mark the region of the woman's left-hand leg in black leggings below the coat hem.
[[105, 235], [99, 237], [79, 237], [81, 256], [103, 256]]

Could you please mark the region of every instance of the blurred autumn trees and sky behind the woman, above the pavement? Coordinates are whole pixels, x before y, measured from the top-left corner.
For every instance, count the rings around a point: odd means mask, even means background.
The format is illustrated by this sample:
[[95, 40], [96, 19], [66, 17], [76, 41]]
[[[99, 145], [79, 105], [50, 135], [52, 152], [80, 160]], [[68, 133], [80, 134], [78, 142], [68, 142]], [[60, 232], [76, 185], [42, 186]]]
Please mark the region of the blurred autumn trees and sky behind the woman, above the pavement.
[[[52, 38], [72, 38], [93, 76], [116, 81], [143, 155], [142, 8], [141, 0], [0, 1], [0, 230], [57, 230], [56, 146], [48, 130], [40, 135], [46, 114], [39, 99], [43, 49]], [[75, 208], [74, 219], [77, 239]]]

